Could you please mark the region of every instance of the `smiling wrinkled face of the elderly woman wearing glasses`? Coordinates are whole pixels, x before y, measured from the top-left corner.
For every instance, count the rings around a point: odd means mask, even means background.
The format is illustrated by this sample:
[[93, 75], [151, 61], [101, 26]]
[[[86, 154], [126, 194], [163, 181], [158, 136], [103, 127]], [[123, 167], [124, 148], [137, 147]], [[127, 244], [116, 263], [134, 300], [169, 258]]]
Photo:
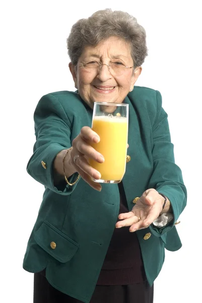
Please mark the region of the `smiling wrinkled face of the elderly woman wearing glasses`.
[[[99, 68], [84, 68], [84, 63], [102, 63]], [[123, 66], [118, 72], [107, 65]], [[93, 108], [94, 102], [122, 103], [141, 74], [142, 68], [132, 67], [130, 46], [119, 37], [110, 37], [96, 46], [86, 46], [77, 67], [69, 64], [75, 87], [82, 99]]]

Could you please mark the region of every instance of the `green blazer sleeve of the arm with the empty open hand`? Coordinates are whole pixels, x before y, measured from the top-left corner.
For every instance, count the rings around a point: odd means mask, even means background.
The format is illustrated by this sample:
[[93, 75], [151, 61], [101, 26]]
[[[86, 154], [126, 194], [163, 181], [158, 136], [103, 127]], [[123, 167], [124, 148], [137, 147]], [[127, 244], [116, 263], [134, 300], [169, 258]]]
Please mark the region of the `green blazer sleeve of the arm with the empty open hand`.
[[162, 97], [157, 93], [157, 115], [153, 124], [153, 163], [154, 170], [148, 188], [155, 188], [170, 200], [174, 219], [165, 227], [150, 226], [151, 232], [161, 236], [173, 228], [186, 206], [187, 192], [182, 172], [175, 164], [173, 144], [171, 143], [168, 115], [162, 108]]

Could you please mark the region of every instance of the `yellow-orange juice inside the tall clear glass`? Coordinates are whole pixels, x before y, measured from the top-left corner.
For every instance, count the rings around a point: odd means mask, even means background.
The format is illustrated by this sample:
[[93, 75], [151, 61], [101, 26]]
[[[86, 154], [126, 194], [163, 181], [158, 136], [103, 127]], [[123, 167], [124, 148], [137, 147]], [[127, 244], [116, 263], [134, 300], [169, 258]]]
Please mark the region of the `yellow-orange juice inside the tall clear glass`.
[[99, 143], [91, 145], [104, 156], [104, 163], [94, 160], [90, 165], [101, 174], [102, 180], [121, 180], [125, 173], [127, 151], [127, 118], [95, 116], [92, 129], [100, 136]]

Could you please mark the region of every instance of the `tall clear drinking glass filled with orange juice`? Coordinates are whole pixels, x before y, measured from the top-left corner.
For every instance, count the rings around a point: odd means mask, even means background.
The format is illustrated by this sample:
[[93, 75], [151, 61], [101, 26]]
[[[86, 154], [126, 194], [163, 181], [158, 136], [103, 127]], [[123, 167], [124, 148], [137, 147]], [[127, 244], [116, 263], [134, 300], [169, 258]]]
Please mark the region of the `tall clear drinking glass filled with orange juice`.
[[104, 163], [92, 159], [89, 164], [100, 172], [99, 183], [119, 183], [125, 173], [128, 104], [95, 102], [92, 129], [100, 136], [99, 143], [91, 145], [103, 155]]

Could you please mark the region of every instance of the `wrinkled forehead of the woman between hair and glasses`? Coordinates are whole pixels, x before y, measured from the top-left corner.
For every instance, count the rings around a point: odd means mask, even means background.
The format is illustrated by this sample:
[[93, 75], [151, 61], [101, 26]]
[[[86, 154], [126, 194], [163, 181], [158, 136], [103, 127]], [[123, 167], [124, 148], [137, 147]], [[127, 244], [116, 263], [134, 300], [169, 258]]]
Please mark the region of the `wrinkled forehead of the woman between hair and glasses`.
[[81, 58], [87, 57], [109, 57], [120, 59], [131, 59], [130, 45], [119, 37], [110, 37], [95, 46], [84, 47]]

